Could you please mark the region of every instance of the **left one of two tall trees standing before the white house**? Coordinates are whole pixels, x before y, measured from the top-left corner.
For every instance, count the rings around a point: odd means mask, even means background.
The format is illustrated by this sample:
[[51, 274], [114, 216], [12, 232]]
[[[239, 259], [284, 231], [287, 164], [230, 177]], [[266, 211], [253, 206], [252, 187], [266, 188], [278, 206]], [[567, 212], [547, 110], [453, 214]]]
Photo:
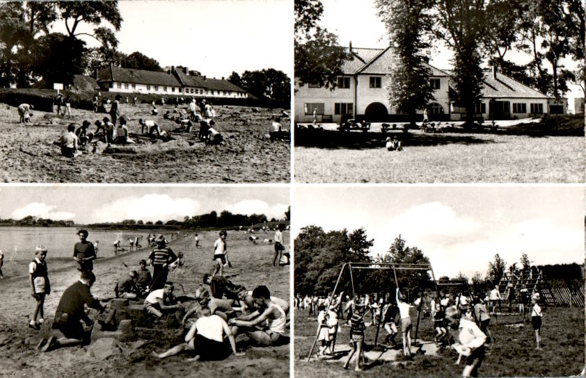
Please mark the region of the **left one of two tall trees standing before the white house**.
[[433, 0], [377, 0], [379, 17], [393, 41], [388, 100], [397, 113], [410, 115], [413, 125], [417, 110], [434, 98], [426, 54], [430, 47], [432, 5]]

